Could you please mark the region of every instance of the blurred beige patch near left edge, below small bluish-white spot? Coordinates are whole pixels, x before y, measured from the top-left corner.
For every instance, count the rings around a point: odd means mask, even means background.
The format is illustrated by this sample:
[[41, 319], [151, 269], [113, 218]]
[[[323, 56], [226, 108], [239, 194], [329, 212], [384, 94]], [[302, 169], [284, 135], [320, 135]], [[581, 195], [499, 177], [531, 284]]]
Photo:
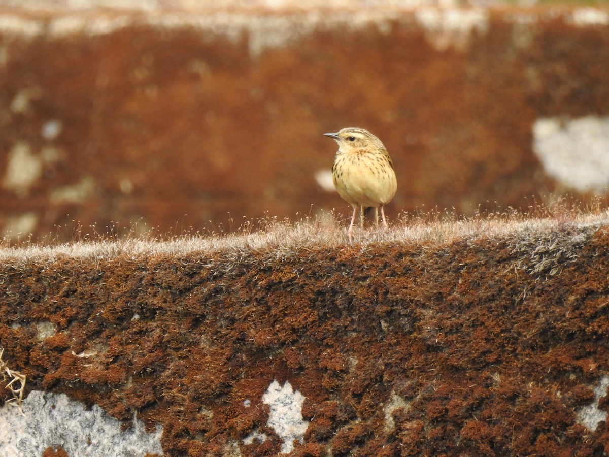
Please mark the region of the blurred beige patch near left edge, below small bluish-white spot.
[[32, 153], [29, 144], [25, 141], [19, 141], [10, 151], [9, 163], [2, 185], [23, 197], [27, 195], [30, 186], [40, 178], [41, 174], [42, 163], [40, 158]]

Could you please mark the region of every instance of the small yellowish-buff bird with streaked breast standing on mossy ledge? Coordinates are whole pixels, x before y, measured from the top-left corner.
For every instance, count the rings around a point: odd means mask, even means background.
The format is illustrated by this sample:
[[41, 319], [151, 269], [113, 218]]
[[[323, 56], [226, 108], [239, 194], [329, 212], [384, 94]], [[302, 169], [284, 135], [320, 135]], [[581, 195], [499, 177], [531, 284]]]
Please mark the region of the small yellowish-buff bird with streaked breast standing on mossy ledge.
[[393, 162], [384, 144], [368, 130], [347, 127], [336, 133], [324, 133], [339, 145], [332, 165], [332, 181], [340, 197], [353, 207], [349, 225], [352, 241], [353, 223], [360, 207], [360, 226], [364, 228], [365, 208], [373, 207], [378, 225], [378, 208], [381, 208], [382, 225], [387, 228], [384, 205], [398, 189]]

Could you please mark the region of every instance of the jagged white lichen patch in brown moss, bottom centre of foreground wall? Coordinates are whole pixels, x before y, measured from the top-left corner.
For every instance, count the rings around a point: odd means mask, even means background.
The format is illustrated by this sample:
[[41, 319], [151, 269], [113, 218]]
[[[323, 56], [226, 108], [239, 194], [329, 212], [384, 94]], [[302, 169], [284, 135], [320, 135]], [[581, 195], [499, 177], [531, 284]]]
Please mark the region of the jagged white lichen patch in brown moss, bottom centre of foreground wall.
[[273, 380], [262, 395], [262, 403], [270, 406], [267, 425], [283, 440], [281, 453], [294, 450], [294, 440], [305, 442], [305, 431], [309, 422], [303, 420], [302, 405], [305, 397], [299, 391], [294, 392], [292, 385], [286, 381], [283, 387]]

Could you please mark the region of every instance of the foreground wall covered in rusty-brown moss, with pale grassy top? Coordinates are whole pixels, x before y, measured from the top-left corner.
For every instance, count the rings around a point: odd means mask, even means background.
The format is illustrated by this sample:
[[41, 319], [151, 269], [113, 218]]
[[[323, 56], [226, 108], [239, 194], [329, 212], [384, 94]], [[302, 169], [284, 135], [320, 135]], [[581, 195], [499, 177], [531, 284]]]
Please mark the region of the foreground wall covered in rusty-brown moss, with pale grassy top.
[[294, 455], [609, 452], [605, 422], [577, 419], [609, 368], [605, 213], [409, 221], [353, 246], [340, 227], [5, 247], [4, 358], [28, 391], [161, 423], [168, 455], [278, 453], [273, 380], [306, 397]]

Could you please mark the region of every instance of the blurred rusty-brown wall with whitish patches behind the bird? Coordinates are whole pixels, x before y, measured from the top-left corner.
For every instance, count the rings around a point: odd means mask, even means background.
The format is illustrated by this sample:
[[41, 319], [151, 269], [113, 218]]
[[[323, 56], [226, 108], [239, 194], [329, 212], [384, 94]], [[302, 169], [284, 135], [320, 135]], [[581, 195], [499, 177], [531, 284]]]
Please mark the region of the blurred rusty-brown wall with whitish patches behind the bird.
[[392, 219], [604, 196], [607, 62], [603, 7], [0, 2], [0, 230], [348, 216], [322, 134], [349, 126], [392, 155]]

